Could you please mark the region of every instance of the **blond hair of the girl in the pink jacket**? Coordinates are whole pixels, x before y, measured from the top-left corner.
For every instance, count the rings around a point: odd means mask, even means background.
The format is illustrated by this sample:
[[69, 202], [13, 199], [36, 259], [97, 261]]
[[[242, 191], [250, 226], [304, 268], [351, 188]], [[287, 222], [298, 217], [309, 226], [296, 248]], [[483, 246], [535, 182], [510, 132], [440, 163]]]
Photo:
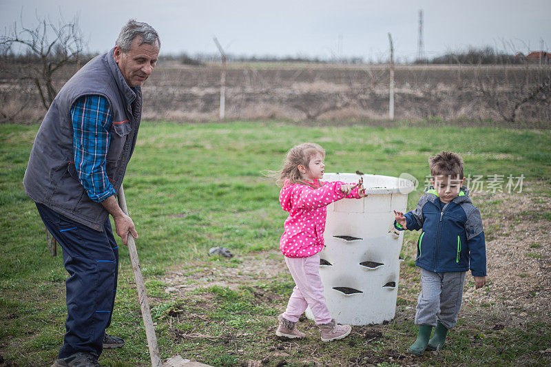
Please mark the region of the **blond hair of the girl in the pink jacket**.
[[275, 183], [282, 186], [288, 181], [290, 184], [300, 183], [312, 186], [302, 179], [298, 166], [303, 165], [307, 170], [310, 160], [318, 154], [325, 158], [325, 150], [315, 143], [302, 143], [289, 149], [283, 160], [282, 168], [275, 174], [277, 177]]

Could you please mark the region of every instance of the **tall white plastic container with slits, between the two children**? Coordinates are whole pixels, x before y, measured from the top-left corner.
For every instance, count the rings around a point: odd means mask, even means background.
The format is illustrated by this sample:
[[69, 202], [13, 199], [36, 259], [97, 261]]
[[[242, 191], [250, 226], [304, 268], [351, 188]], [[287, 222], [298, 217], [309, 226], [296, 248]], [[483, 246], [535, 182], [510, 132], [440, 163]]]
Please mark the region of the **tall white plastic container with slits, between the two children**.
[[[380, 175], [324, 174], [324, 181], [355, 183], [364, 178], [368, 196], [327, 206], [320, 275], [336, 322], [381, 324], [396, 312], [399, 253], [404, 234], [393, 227], [394, 212], [406, 211], [413, 182]], [[306, 317], [313, 319], [308, 308]]]

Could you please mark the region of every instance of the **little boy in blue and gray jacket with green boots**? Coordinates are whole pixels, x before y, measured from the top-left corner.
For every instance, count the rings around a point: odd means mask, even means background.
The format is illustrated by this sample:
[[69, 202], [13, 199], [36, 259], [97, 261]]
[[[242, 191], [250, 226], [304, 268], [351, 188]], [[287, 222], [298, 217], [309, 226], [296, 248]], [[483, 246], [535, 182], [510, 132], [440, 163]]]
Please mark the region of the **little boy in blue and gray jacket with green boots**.
[[[459, 154], [442, 151], [428, 162], [433, 187], [415, 210], [405, 215], [394, 211], [396, 229], [422, 229], [415, 260], [422, 286], [415, 313], [419, 335], [408, 349], [413, 355], [444, 346], [448, 330], [457, 323], [466, 271], [475, 277], [476, 289], [486, 284], [484, 230], [480, 212], [462, 186], [463, 160]], [[435, 335], [429, 340], [434, 326]]]

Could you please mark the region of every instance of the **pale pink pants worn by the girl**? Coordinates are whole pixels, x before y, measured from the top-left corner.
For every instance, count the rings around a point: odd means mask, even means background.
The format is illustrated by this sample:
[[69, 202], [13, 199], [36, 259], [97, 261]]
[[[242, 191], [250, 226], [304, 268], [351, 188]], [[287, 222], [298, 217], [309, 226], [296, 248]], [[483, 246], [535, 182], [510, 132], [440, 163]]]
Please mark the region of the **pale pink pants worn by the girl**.
[[290, 322], [298, 322], [300, 315], [310, 306], [316, 324], [331, 322], [320, 277], [320, 255], [316, 253], [308, 258], [285, 258], [285, 263], [296, 285], [283, 317]]

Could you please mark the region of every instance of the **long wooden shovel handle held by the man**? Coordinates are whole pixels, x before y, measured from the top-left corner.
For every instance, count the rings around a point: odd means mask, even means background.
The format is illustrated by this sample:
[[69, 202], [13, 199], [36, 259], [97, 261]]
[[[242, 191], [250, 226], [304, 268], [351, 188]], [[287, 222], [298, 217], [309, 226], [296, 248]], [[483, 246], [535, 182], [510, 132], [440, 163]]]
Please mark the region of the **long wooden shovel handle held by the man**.
[[[125, 191], [122, 184], [121, 189], [118, 191], [117, 197], [118, 206], [121, 207], [126, 215], [128, 215]], [[159, 347], [157, 345], [157, 337], [155, 335], [155, 328], [151, 318], [151, 311], [149, 310], [149, 302], [147, 302], [147, 293], [145, 293], [145, 284], [143, 283], [140, 260], [138, 259], [138, 251], [136, 251], [136, 242], [134, 242], [134, 238], [130, 235], [130, 233], [128, 233], [127, 244], [128, 252], [130, 254], [130, 262], [132, 262], [132, 271], [134, 271], [134, 280], [136, 280], [136, 288], [138, 289], [138, 299], [140, 300], [140, 307], [142, 309], [143, 326], [145, 326], [145, 336], [147, 337], [147, 346], [149, 347], [151, 365], [153, 367], [162, 367], [163, 363], [160, 361]]]

